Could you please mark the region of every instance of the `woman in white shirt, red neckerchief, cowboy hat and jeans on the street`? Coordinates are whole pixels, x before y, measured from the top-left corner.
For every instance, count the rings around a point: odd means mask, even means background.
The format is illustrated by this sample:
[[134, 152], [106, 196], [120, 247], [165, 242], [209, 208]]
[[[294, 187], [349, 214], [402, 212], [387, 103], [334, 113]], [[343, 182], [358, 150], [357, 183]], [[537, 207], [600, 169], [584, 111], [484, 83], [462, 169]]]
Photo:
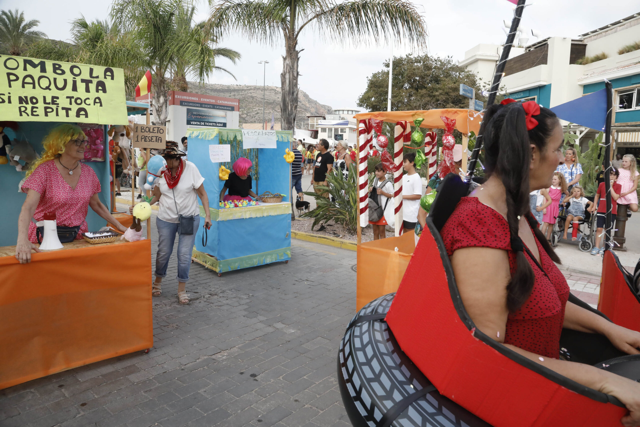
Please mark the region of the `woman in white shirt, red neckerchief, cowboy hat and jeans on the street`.
[[[154, 186], [153, 198], [150, 204], [160, 201], [156, 226], [158, 229], [158, 252], [156, 254], [156, 280], [152, 285], [151, 294], [162, 294], [161, 283], [166, 277], [166, 268], [173, 252], [175, 235], [178, 234], [178, 302], [189, 303], [189, 294], [186, 293], [186, 282], [189, 281], [189, 269], [191, 268], [191, 252], [196, 238], [196, 231], [200, 225], [200, 208], [198, 197], [202, 200], [205, 211], [205, 227], [211, 227], [211, 214], [209, 214], [209, 198], [204, 190], [204, 178], [200, 171], [190, 161], [182, 159], [186, 154], [178, 150], [178, 143], [166, 141], [166, 149], [152, 150], [153, 154], [163, 156], [166, 160], [166, 170], [162, 173], [158, 183]], [[129, 211], [132, 210], [132, 207]], [[180, 218], [186, 222], [193, 222], [193, 229], [182, 229]], [[186, 217], [186, 218], [184, 218]], [[193, 217], [192, 219], [189, 217]], [[191, 231], [190, 234], [186, 232]]]

